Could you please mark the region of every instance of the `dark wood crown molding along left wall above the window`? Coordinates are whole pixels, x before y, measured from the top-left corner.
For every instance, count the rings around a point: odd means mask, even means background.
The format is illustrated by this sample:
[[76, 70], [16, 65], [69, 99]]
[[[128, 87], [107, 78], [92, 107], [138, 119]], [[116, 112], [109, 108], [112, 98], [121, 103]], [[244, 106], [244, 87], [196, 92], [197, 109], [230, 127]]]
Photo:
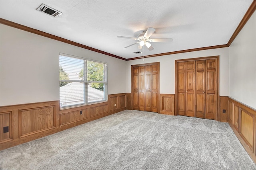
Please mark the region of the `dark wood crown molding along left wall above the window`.
[[58, 36], [55, 36], [55, 35], [52, 35], [52, 34], [49, 34], [49, 33], [46, 33], [46, 32], [43, 32], [43, 31], [39, 31], [38, 29], [33, 29], [33, 28], [30, 28], [30, 27], [27, 27], [27, 26], [24, 26], [24, 25], [21, 25], [21, 24], [18, 24], [18, 23], [15, 23], [15, 22], [12, 22], [12, 21], [8, 21], [8, 20], [4, 20], [2, 18], [0, 18], [0, 23], [4, 24], [4, 25], [8, 25], [10, 27], [14, 27], [14, 28], [17, 28], [17, 29], [21, 29], [23, 31], [28, 31], [30, 33], [34, 33], [34, 34], [37, 34], [37, 35], [41, 35], [41, 36], [44, 36], [44, 37], [47, 37], [47, 38], [50, 38], [50, 39], [54, 39], [54, 40], [57, 40], [57, 41], [61, 41], [63, 43], [67, 43], [67, 44], [70, 44], [70, 45], [74, 45], [74, 46], [77, 46], [77, 47], [81, 47], [81, 48], [84, 48], [84, 49], [88, 49], [90, 51], [94, 51], [96, 53], [101, 53], [101, 54], [104, 54], [104, 55], [108, 55], [108, 56], [111, 56], [111, 57], [115, 57], [117, 59], [121, 59], [121, 60], [125, 60], [125, 58], [123, 57], [119, 57], [117, 55], [114, 55], [114, 54], [110, 54], [110, 53], [107, 53], [105, 51], [101, 51], [101, 50], [98, 50], [98, 49], [94, 49], [92, 47], [88, 47], [86, 45], [82, 45], [80, 43], [76, 43], [74, 41], [70, 41], [68, 39], [64, 39], [62, 37], [58, 37]]

